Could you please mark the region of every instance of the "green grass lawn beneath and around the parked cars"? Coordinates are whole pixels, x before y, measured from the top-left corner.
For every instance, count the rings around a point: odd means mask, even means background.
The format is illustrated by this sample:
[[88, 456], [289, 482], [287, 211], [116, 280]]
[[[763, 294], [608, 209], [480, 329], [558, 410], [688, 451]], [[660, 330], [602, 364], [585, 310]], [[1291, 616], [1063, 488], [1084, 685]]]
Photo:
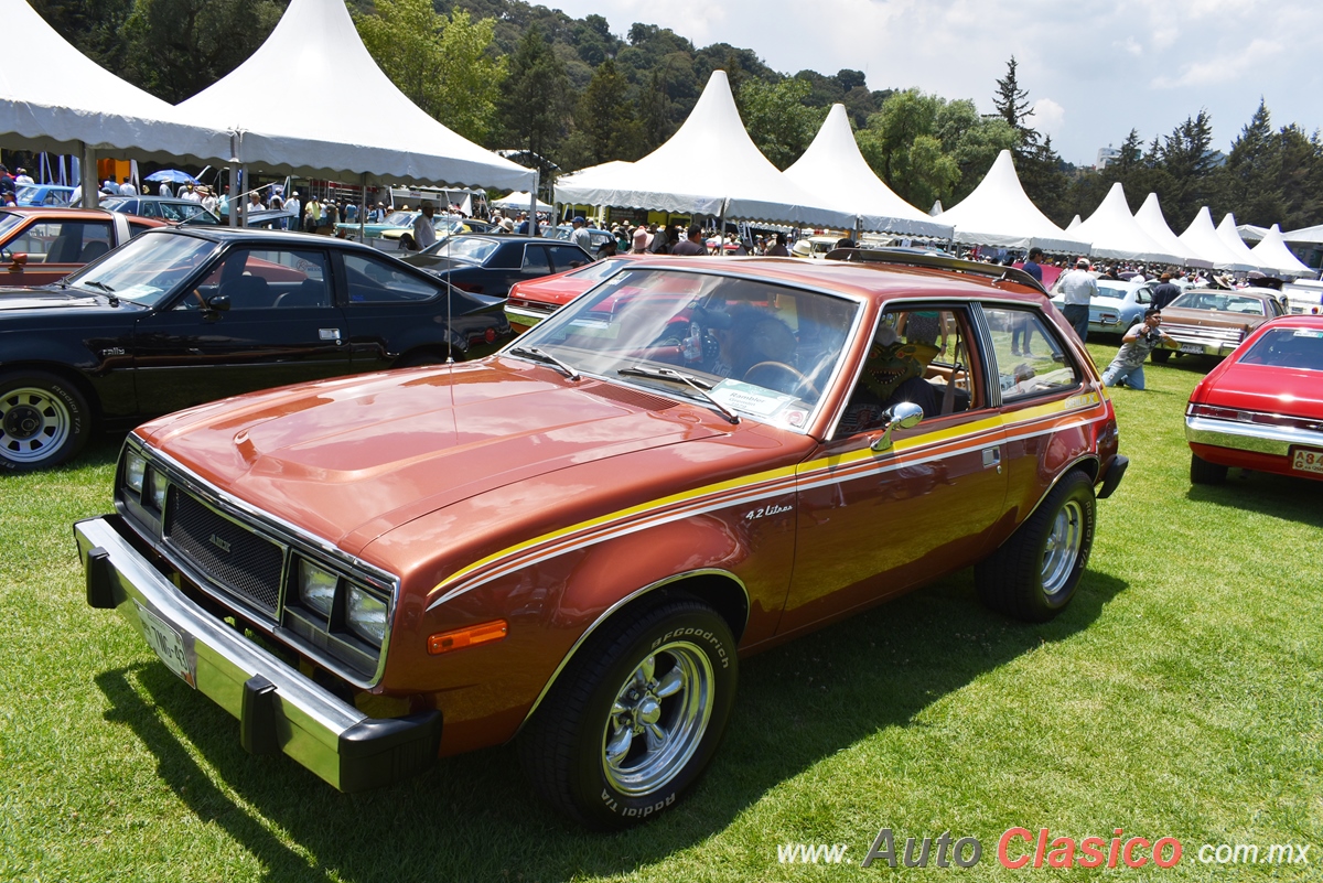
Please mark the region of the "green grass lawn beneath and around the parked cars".
[[[962, 572], [747, 660], [706, 777], [617, 835], [545, 810], [509, 747], [359, 796], [247, 756], [233, 718], [85, 603], [70, 522], [110, 510], [116, 440], [0, 479], [0, 880], [1323, 879], [1323, 482], [1192, 488], [1181, 415], [1208, 367], [1115, 393], [1131, 467], [1060, 619], [990, 613]], [[995, 854], [1015, 826], [1184, 855], [1012, 871]], [[901, 850], [976, 837], [983, 858], [864, 868], [881, 827]], [[1287, 842], [1310, 863], [1197, 855]], [[778, 862], [790, 843], [848, 850]]]

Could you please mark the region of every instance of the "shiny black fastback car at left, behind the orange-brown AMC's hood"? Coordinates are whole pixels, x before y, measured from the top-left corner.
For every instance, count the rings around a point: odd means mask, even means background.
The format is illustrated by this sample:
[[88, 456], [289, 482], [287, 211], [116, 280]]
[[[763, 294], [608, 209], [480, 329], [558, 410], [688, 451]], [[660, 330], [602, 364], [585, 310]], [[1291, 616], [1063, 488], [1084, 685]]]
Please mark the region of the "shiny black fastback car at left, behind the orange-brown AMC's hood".
[[181, 226], [42, 288], [0, 288], [0, 472], [56, 465], [94, 427], [238, 393], [495, 352], [500, 297], [364, 245]]

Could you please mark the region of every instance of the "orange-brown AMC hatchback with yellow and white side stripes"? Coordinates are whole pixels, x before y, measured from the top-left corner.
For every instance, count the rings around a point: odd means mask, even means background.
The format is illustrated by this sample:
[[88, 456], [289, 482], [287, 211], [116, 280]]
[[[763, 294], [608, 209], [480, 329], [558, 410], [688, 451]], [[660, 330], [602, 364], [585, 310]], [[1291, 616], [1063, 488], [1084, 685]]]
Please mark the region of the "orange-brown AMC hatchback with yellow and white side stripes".
[[152, 420], [87, 601], [341, 790], [516, 739], [589, 827], [665, 812], [741, 657], [968, 566], [1046, 620], [1127, 465], [1029, 276], [832, 258], [632, 262], [486, 360]]

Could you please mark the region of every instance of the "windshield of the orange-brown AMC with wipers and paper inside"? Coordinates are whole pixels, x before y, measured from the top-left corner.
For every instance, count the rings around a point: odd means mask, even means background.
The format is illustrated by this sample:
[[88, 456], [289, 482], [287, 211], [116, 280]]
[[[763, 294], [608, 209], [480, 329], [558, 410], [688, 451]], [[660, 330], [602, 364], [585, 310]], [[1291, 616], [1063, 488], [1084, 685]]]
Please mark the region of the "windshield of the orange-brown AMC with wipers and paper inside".
[[859, 312], [844, 297], [753, 279], [622, 270], [515, 346], [701, 404], [683, 374], [741, 416], [802, 432]]

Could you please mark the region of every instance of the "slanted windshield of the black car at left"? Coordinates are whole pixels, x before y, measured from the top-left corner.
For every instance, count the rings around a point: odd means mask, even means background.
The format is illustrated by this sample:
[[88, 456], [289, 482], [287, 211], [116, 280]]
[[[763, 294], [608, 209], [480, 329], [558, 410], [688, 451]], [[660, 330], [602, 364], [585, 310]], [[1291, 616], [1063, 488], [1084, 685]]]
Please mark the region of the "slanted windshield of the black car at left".
[[74, 288], [155, 307], [220, 246], [171, 233], [146, 233], [66, 279]]

